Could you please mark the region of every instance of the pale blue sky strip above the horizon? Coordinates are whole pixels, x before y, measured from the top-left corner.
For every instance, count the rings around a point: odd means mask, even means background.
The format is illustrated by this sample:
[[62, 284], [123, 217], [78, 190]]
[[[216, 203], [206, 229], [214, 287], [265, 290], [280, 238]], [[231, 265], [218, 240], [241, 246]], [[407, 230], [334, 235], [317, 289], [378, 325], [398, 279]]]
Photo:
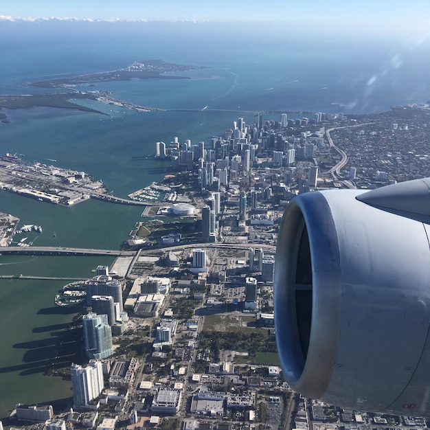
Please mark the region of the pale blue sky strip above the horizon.
[[0, 14], [13, 18], [145, 19], [157, 21], [290, 21], [291, 19], [420, 21], [428, 0], [14, 0]]

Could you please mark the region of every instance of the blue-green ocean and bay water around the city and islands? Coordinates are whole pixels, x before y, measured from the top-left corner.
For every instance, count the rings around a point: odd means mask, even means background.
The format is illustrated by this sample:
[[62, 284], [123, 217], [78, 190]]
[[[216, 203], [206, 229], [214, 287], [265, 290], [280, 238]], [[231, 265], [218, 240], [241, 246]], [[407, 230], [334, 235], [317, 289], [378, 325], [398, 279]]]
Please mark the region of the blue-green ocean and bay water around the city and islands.
[[[304, 34], [216, 25], [0, 23], [0, 94], [40, 93], [27, 82], [49, 76], [112, 70], [159, 58], [205, 69], [188, 80], [133, 80], [95, 84], [114, 97], [168, 111], [137, 113], [82, 102], [107, 115], [34, 108], [4, 111], [0, 153], [52, 163], [102, 179], [126, 196], [170, 172], [168, 161], [133, 157], [155, 153], [155, 142], [209, 142], [237, 117], [221, 110], [367, 113], [430, 99], [429, 46], [362, 38], [316, 40]], [[56, 91], [56, 90], [54, 90]], [[196, 111], [174, 111], [195, 109]], [[276, 115], [265, 117], [279, 119]], [[36, 245], [120, 247], [139, 220], [138, 207], [87, 201], [58, 207], [0, 191], [0, 212], [43, 227]], [[106, 258], [0, 256], [0, 274], [91, 276]], [[43, 371], [56, 339], [73, 314], [53, 304], [64, 282], [0, 280], [0, 418], [18, 402], [54, 402], [71, 396], [70, 383]], [[7, 330], [5, 329], [7, 328]], [[62, 357], [67, 363], [69, 357]]]

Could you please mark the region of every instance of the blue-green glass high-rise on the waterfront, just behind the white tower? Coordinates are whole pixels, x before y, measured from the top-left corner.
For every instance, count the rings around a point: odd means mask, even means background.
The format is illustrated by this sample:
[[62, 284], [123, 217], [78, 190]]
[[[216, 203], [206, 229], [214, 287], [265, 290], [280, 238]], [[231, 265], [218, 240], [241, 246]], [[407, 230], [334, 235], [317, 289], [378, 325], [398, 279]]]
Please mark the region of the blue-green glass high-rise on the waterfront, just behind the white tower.
[[106, 359], [113, 354], [112, 330], [107, 315], [89, 313], [82, 318], [85, 352], [89, 359]]

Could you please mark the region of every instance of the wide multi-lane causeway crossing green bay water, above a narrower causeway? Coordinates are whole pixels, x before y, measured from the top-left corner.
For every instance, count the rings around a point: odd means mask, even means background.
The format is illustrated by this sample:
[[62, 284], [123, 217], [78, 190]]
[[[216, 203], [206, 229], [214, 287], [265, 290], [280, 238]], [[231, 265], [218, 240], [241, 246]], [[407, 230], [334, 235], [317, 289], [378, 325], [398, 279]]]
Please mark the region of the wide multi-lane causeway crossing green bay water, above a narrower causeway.
[[117, 249], [85, 249], [65, 247], [0, 247], [3, 256], [112, 256], [132, 257], [136, 251], [119, 251]]

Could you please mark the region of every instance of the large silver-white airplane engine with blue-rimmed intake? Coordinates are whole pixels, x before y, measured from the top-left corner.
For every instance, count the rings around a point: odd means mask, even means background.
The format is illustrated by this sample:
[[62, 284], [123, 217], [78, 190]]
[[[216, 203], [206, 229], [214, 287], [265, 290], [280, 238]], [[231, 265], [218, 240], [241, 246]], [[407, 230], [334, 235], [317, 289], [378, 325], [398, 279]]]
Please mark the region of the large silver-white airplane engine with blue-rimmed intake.
[[296, 392], [430, 416], [430, 179], [300, 194], [282, 218], [275, 329]]

